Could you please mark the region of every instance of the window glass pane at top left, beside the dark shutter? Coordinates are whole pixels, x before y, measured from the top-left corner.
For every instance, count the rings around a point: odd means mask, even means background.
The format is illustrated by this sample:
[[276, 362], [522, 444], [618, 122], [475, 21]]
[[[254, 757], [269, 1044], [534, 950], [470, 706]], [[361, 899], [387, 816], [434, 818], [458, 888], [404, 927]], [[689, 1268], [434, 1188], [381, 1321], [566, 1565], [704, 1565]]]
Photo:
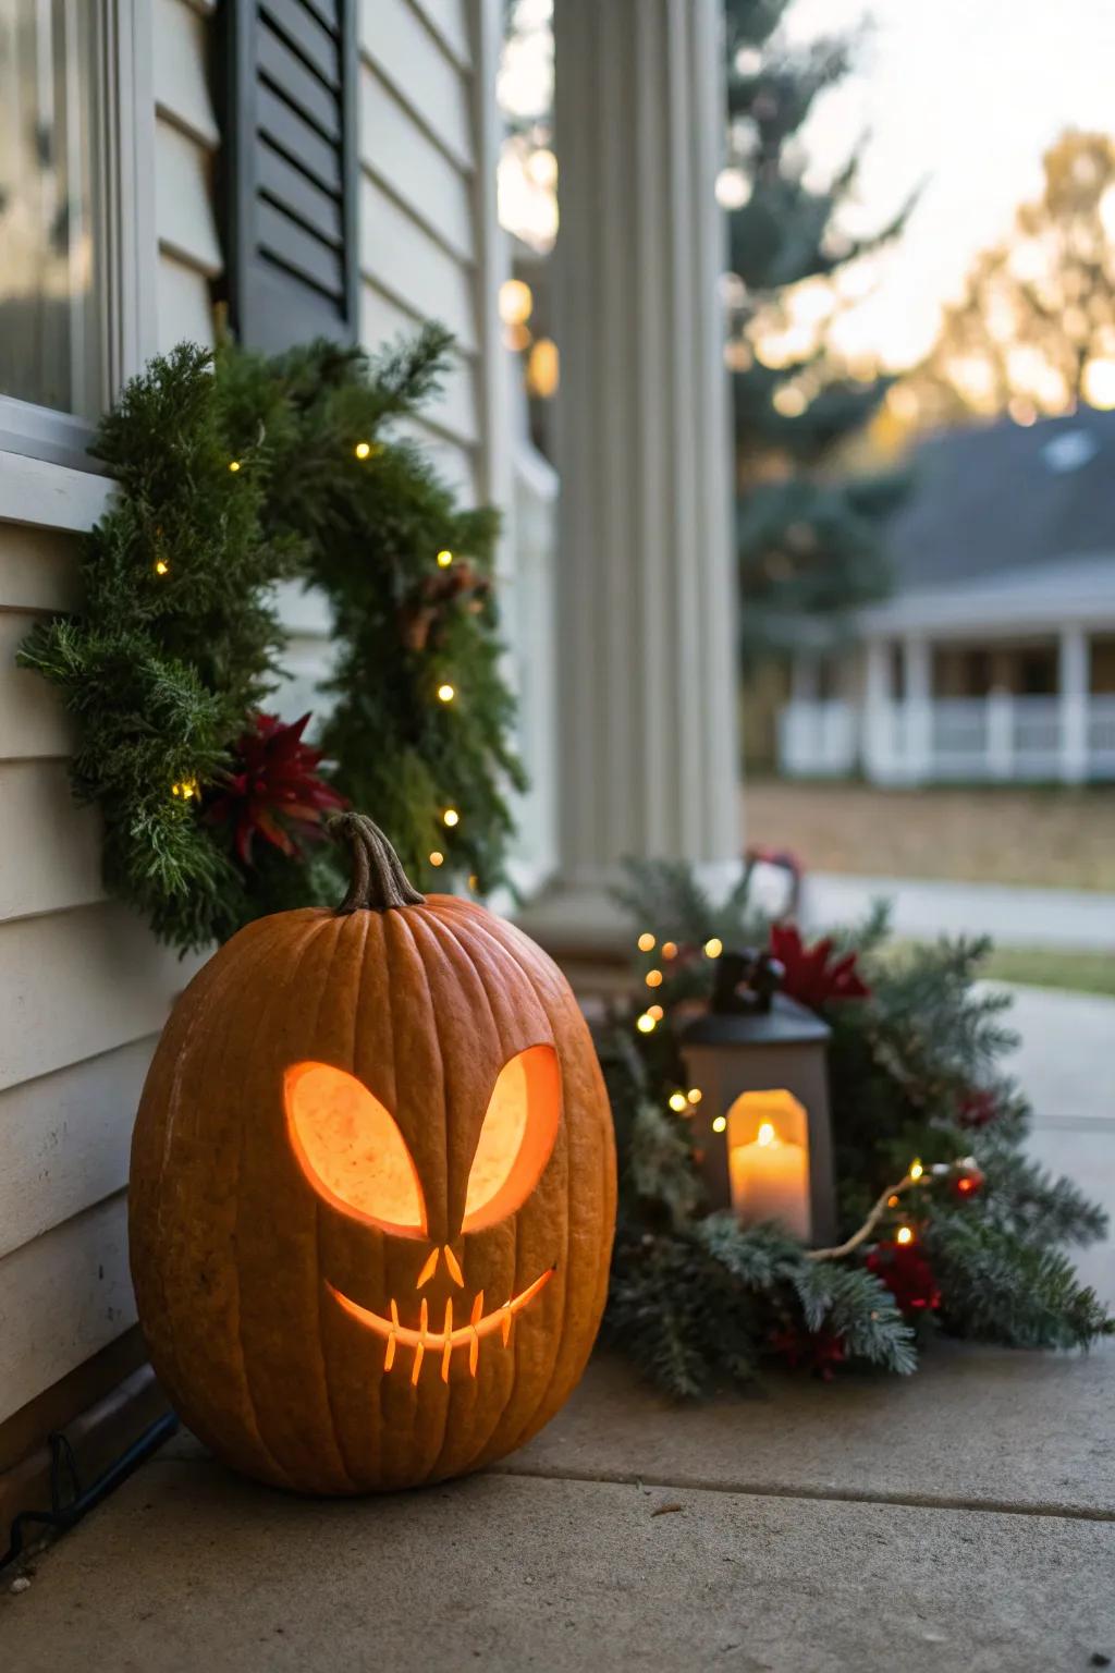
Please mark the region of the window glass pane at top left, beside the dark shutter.
[[95, 13], [0, 0], [0, 395], [94, 417]]

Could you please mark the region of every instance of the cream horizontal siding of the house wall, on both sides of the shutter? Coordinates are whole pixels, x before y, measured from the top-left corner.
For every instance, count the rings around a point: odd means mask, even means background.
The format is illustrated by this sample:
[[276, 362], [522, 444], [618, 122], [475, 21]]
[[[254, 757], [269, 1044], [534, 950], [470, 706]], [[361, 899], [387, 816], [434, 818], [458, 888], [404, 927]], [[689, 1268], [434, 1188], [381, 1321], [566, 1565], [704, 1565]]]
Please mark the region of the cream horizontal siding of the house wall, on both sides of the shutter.
[[[219, 132], [206, 74], [212, 0], [152, 5], [150, 261], [165, 350], [212, 341]], [[413, 433], [470, 502], [510, 505], [495, 463], [507, 455], [493, 400], [496, 15], [498, 0], [363, 0], [361, 340], [374, 351], [425, 318], [453, 326], [445, 393]], [[79, 602], [79, 537], [109, 494], [104, 477], [0, 453], [0, 1424], [134, 1320], [130, 1129], [154, 1041], [199, 964], [105, 898], [99, 813], [69, 793], [74, 728], [57, 693], [13, 664], [37, 617]], [[501, 562], [508, 574], [507, 547]], [[276, 706], [321, 713], [328, 612], [298, 587], [281, 612], [289, 679]]]

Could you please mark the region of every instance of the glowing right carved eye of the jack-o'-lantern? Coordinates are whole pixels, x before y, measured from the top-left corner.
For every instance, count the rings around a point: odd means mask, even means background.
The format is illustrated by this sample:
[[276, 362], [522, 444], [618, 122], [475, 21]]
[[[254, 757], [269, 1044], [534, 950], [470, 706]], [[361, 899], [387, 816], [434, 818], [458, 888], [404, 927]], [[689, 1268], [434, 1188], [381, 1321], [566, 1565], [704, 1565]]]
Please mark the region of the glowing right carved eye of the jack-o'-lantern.
[[513, 1215], [550, 1159], [562, 1114], [562, 1076], [553, 1046], [530, 1046], [503, 1064], [476, 1141], [463, 1231]]

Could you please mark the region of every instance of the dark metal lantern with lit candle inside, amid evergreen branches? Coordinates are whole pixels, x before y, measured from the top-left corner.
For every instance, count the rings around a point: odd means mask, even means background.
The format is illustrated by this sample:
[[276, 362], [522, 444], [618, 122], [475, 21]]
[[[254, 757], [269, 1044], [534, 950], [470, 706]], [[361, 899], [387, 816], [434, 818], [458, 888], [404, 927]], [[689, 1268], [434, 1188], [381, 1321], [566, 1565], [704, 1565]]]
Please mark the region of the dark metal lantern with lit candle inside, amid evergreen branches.
[[694, 1141], [714, 1208], [777, 1220], [802, 1243], [836, 1236], [827, 1042], [831, 1029], [777, 992], [771, 954], [726, 952], [709, 1010], [682, 1036], [700, 1089]]

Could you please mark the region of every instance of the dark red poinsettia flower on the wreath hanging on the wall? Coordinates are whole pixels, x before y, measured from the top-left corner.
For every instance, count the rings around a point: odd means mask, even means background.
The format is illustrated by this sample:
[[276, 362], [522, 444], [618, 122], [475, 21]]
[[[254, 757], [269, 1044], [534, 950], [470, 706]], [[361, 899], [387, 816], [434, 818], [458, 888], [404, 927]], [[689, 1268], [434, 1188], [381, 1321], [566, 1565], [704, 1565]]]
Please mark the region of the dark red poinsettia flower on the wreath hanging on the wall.
[[321, 750], [303, 743], [309, 714], [286, 726], [277, 714], [256, 714], [254, 726], [236, 743], [236, 763], [207, 816], [234, 826], [236, 852], [251, 865], [259, 833], [281, 853], [299, 852], [296, 838], [319, 835], [324, 813], [346, 808], [318, 773]]

